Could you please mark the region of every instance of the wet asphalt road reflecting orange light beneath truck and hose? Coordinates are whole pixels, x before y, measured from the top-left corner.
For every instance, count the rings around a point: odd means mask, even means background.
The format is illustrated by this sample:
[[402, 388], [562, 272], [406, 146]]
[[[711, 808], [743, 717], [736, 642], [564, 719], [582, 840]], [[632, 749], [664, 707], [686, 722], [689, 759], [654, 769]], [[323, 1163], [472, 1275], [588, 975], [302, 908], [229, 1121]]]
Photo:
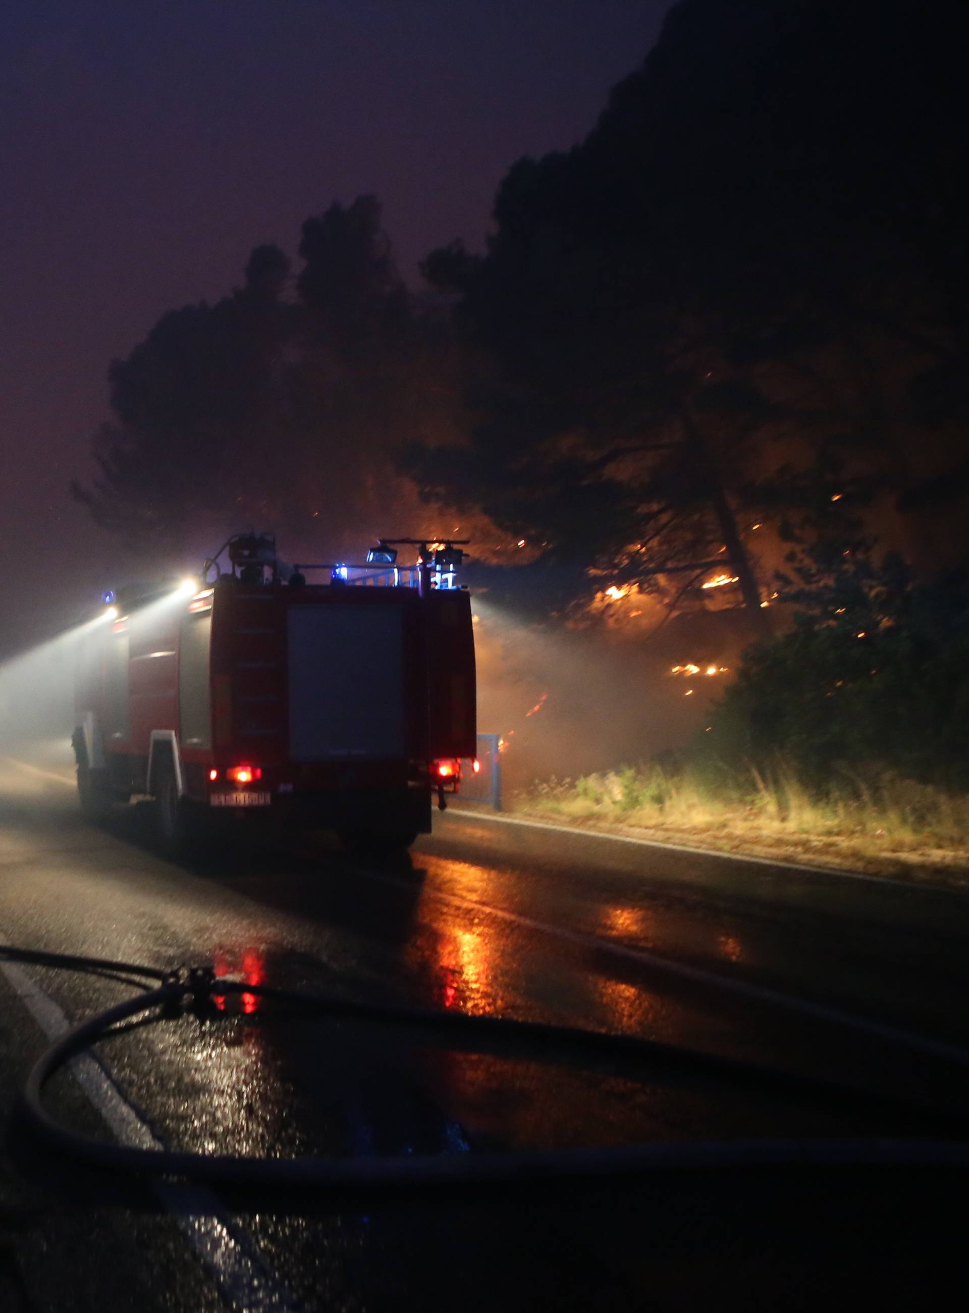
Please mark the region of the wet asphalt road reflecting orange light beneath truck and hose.
[[[957, 893], [473, 813], [440, 818], [403, 863], [240, 825], [177, 867], [152, 853], [144, 807], [84, 825], [66, 776], [0, 764], [0, 943], [630, 1033], [872, 1096], [452, 1052], [249, 995], [113, 1039], [117, 1088], [93, 1104], [58, 1077], [51, 1106], [95, 1136], [112, 1136], [104, 1100], [118, 1092], [163, 1144], [252, 1155], [961, 1133]], [[63, 1161], [13, 1115], [50, 1006], [75, 1022], [129, 993], [0, 961], [4, 1309], [830, 1308], [876, 1287], [911, 1306], [932, 1302], [961, 1250], [947, 1200], [966, 1182], [949, 1169], [340, 1197], [146, 1190]], [[886, 1094], [920, 1111], [876, 1107]]]

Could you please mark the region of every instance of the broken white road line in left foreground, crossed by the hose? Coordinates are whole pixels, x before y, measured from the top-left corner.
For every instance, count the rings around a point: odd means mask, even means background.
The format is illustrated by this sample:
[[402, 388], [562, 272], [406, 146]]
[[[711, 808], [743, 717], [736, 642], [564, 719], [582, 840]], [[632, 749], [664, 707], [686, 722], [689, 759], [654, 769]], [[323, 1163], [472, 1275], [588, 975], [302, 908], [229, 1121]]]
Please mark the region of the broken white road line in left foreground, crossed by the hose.
[[[0, 972], [49, 1040], [59, 1040], [67, 1033], [70, 1024], [60, 1007], [21, 966], [0, 957]], [[70, 1070], [121, 1144], [151, 1150], [165, 1148], [96, 1058], [83, 1053], [71, 1060]], [[162, 1180], [152, 1180], [151, 1190], [172, 1215], [231, 1309], [238, 1313], [299, 1313], [299, 1304], [267, 1266], [252, 1239], [222, 1212], [211, 1191]]]

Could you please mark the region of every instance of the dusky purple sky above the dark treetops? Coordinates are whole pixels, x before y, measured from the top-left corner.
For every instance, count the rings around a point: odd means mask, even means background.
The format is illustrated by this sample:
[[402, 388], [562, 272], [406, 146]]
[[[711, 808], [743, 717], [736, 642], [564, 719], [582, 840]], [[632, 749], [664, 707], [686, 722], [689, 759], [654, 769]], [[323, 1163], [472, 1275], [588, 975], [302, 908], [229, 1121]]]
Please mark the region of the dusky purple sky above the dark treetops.
[[[584, 135], [668, 0], [4, 0], [0, 651], [117, 548], [72, 506], [106, 368], [251, 247], [376, 192], [402, 270], [482, 244], [521, 155]], [[217, 544], [213, 544], [217, 546]]]

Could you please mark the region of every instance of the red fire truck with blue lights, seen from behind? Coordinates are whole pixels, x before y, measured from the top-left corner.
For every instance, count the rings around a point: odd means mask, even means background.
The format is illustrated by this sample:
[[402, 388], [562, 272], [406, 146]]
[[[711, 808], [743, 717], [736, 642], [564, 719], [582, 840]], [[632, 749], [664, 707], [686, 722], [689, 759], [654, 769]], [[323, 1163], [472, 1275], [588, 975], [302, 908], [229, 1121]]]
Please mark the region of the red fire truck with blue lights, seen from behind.
[[230, 810], [381, 846], [428, 832], [474, 760], [471, 611], [458, 545], [399, 541], [415, 565], [381, 541], [362, 566], [286, 566], [240, 534], [200, 579], [105, 593], [77, 664], [84, 811], [148, 797], [169, 853]]

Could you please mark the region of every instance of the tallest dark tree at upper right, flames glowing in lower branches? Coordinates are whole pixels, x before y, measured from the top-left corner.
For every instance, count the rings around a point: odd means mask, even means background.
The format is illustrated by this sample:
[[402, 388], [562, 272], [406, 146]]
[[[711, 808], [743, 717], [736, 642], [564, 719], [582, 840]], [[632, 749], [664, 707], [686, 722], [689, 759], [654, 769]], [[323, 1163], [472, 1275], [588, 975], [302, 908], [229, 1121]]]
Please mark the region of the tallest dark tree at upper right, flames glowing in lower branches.
[[424, 495], [667, 605], [720, 579], [763, 633], [780, 542], [945, 467], [964, 17], [932, 14], [674, 8], [580, 146], [511, 169], [487, 253], [428, 259], [481, 357], [466, 445], [407, 452]]

